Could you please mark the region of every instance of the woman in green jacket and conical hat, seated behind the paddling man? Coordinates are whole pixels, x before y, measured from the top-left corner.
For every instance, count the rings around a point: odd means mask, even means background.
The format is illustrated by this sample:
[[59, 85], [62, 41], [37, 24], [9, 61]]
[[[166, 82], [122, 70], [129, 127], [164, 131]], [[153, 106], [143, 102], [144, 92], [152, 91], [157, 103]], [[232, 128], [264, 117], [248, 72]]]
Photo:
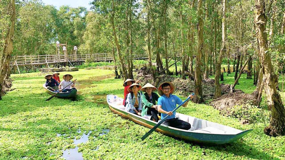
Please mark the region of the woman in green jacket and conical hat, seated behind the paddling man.
[[142, 110], [142, 117], [144, 115], [151, 115], [151, 120], [158, 122], [159, 118], [157, 116], [157, 105], [156, 101], [158, 100], [158, 95], [154, 93], [153, 91], [156, 90], [156, 87], [153, 85], [147, 83], [143, 86], [141, 91], [145, 92], [142, 95], [142, 101], [143, 101], [143, 110]]

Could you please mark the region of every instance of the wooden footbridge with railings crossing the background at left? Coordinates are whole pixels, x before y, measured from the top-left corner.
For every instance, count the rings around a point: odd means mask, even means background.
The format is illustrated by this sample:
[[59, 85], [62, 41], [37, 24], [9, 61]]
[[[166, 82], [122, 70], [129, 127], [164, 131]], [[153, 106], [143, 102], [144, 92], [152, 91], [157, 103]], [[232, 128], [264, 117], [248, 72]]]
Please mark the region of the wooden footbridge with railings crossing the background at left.
[[[147, 54], [134, 54], [133, 59], [148, 59]], [[10, 63], [12, 73], [23, 71], [36, 71], [40, 68], [53, 68], [62, 66], [82, 65], [85, 61], [90, 62], [111, 62], [113, 56], [106, 53], [86, 54], [86, 55], [24, 55], [12, 58]]]

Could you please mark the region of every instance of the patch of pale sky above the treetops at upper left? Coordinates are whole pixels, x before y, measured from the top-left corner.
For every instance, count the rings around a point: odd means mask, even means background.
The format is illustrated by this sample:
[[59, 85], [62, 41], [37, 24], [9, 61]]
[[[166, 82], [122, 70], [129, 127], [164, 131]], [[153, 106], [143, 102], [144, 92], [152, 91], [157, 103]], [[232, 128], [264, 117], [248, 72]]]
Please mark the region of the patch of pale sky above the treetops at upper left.
[[90, 10], [91, 5], [89, 5], [92, 0], [42, 0], [45, 4], [53, 5], [59, 9], [62, 5], [69, 5], [70, 7], [86, 7]]

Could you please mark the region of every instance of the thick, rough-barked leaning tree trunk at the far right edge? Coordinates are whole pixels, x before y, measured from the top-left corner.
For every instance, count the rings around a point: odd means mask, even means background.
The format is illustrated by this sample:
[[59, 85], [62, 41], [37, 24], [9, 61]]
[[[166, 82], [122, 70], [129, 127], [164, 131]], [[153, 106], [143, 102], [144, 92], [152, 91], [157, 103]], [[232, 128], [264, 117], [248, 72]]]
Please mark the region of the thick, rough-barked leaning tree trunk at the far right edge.
[[[268, 54], [265, 1], [255, 0], [257, 25], [257, 39], [259, 41], [260, 61], [262, 63], [263, 83], [267, 97], [268, 108], [271, 109], [270, 125], [264, 129], [265, 134], [271, 136], [285, 135], [285, 109], [279, 93], [276, 90], [276, 74]], [[270, 51], [269, 51], [270, 52]]]

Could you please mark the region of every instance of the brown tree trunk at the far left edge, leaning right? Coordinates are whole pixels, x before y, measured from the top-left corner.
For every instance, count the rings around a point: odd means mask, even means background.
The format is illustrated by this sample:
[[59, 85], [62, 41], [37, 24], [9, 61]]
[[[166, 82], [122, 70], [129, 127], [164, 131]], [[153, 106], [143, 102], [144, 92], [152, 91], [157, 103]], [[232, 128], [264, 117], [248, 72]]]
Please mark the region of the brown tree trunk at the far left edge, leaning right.
[[6, 77], [7, 72], [9, 72], [10, 61], [11, 61], [11, 56], [12, 56], [12, 51], [13, 51], [13, 40], [14, 40], [14, 32], [15, 32], [15, 15], [16, 15], [15, 0], [11, 0], [10, 5], [12, 6], [12, 13], [11, 13], [11, 19], [10, 19], [11, 27], [8, 30], [9, 35], [6, 37], [7, 44], [5, 44], [5, 46], [7, 45], [7, 47], [5, 51], [3, 52], [3, 55], [5, 55], [5, 58], [3, 60], [3, 63], [1, 64], [1, 70], [0, 70], [0, 95], [3, 89], [4, 78]]

